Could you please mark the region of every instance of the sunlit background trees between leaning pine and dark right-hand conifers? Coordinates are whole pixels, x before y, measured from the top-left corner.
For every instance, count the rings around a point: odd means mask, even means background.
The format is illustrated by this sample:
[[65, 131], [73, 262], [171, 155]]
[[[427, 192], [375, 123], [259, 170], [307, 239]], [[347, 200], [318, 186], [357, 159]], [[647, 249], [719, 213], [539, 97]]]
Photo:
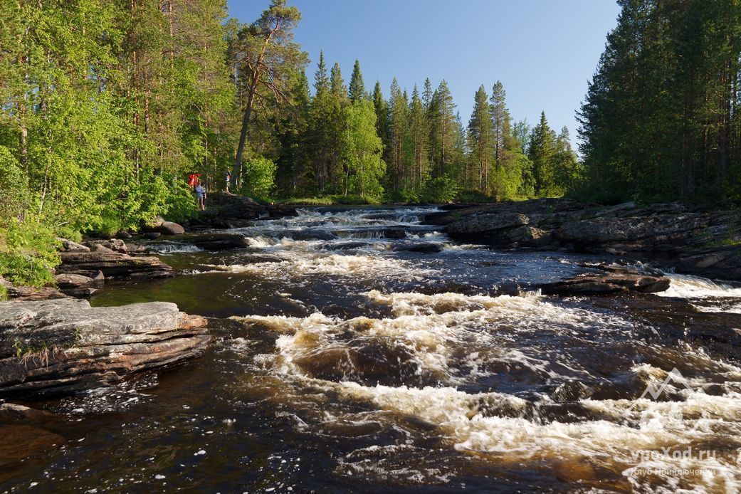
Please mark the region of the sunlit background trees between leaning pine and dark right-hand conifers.
[[[464, 126], [445, 79], [435, 89], [430, 79], [422, 91], [414, 84], [409, 96], [393, 78], [386, 99], [379, 81], [366, 90], [358, 60], [345, 84], [339, 63], [327, 69], [323, 50], [313, 95], [304, 70], [291, 79], [295, 111], [279, 121], [288, 132], [279, 133], [274, 156], [276, 187], [284, 197], [444, 202], [462, 195], [559, 196], [579, 173], [568, 128], [556, 134], [545, 111], [534, 127], [514, 121], [501, 81], [491, 96], [479, 87]], [[259, 190], [259, 183], [270, 182], [264, 170], [256, 170], [256, 164], [265, 168], [259, 161], [246, 167], [245, 187], [268, 195], [267, 188]], [[234, 176], [240, 171], [235, 168]]]

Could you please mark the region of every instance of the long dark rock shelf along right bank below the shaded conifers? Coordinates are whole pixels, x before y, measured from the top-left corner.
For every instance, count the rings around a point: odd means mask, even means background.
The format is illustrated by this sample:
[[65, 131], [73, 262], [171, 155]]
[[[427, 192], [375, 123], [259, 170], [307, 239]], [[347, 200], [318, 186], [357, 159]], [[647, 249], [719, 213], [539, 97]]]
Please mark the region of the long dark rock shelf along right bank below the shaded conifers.
[[453, 239], [508, 249], [606, 253], [741, 280], [741, 214], [683, 204], [601, 207], [568, 199], [453, 206], [428, 215]]

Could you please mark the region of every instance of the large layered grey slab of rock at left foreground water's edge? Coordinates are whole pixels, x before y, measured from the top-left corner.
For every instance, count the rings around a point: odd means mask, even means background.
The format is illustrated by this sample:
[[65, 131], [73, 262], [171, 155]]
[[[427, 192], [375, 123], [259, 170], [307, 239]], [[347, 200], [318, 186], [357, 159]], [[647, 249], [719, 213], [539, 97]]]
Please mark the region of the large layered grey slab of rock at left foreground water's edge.
[[210, 338], [206, 324], [169, 302], [2, 302], [0, 395], [68, 393], [197, 356]]

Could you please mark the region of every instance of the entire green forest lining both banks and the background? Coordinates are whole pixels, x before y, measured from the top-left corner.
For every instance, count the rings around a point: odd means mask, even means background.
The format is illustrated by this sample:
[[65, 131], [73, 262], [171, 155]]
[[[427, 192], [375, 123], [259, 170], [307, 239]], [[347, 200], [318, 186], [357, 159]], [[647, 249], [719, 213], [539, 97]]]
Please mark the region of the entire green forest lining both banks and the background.
[[619, 4], [578, 158], [499, 81], [461, 116], [445, 80], [310, 61], [285, 0], [247, 23], [225, 0], [4, 1], [0, 271], [42, 284], [55, 236], [192, 216], [188, 173], [268, 201], [740, 201], [741, 2]]

